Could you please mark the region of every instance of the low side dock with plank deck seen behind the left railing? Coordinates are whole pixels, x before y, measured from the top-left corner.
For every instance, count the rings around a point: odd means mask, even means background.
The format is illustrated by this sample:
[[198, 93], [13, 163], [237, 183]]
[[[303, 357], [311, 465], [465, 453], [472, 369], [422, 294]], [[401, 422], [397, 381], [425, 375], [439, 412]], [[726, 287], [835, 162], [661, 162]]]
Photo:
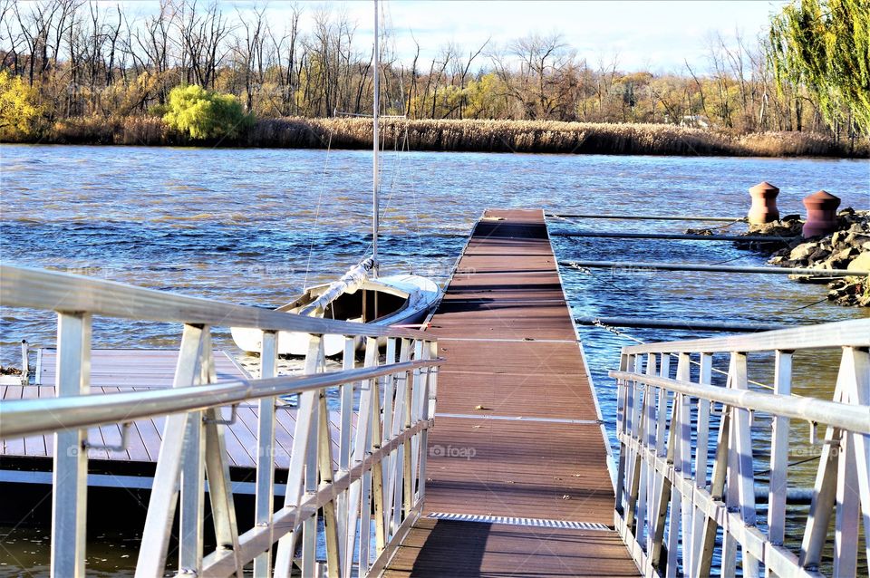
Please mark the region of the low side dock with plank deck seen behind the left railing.
[[[167, 390], [179, 361], [178, 350], [154, 349], [98, 349], [91, 352], [92, 394], [120, 393], [121, 391]], [[37, 355], [34, 385], [0, 385], [3, 402], [28, 399], [51, 399], [57, 396], [57, 352], [41, 349]], [[227, 352], [215, 352], [215, 371], [220, 381], [246, 380], [244, 371]], [[235, 419], [229, 408], [223, 409], [227, 426], [227, 458], [235, 468], [240, 483], [237, 493], [252, 494], [254, 467], [256, 467], [256, 402], [239, 404]], [[337, 412], [331, 412], [337, 421]], [[102, 469], [108, 473], [92, 474], [90, 486], [145, 488], [150, 487], [151, 476], [160, 455], [163, 428], [166, 419], [140, 419], [131, 421], [126, 435], [119, 424], [92, 428], [88, 431], [88, 458], [105, 461]], [[279, 406], [275, 410], [275, 467], [286, 469], [290, 464], [290, 450], [296, 422], [293, 405]], [[333, 439], [337, 447], [338, 440]], [[45, 434], [26, 438], [4, 438], [0, 441], [0, 483], [18, 482], [51, 484], [53, 436]], [[121, 463], [123, 462], [123, 463]], [[112, 464], [114, 466], [112, 466]], [[138, 477], [120, 476], [113, 467], [135, 473]], [[22, 474], [22, 471], [27, 474]]]

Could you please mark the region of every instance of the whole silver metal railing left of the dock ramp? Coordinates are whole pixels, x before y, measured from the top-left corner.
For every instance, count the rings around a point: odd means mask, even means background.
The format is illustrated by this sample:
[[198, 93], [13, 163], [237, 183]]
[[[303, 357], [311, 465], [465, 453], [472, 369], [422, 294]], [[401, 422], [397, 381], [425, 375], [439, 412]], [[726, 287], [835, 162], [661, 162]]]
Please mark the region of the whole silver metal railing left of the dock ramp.
[[[364, 575], [382, 567], [420, 515], [435, 368], [441, 362], [429, 334], [8, 265], [0, 266], [0, 303], [58, 314], [58, 397], [0, 407], [0, 438], [54, 433], [53, 575], [84, 575], [87, 429], [102, 424], [166, 416], [140, 544], [140, 577], [166, 572], [177, 508], [178, 571], [209, 576], [241, 576], [252, 561], [255, 576], [289, 576], [296, 566], [304, 576]], [[89, 395], [93, 315], [183, 323], [173, 388]], [[217, 381], [211, 327], [227, 325], [263, 331], [260, 379]], [[281, 331], [311, 334], [303, 375], [276, 376]], [[345, 338], [341, 371], [324, 372], [326, 334]], [[360, 337], [364, 366], [356, 368], [354, 343]], [[378, 338], [386, 339], [383, 363]], [[340, 401], [337, 428], [327, 407], [330, 389]], [[275, 510], [275, 407], [278, 396], [291, 394], [298, 395], [293, 448], [284, 505]], [[258, 405], [256, 503], [254, 526], [241, 532], [221, 408], [246, 400]], [[208, 555], [207, 480], [218, 544]], [[319, 551], [318, 533], [325, 538]], [[325, 560], [319, 560], [324, 551]]]

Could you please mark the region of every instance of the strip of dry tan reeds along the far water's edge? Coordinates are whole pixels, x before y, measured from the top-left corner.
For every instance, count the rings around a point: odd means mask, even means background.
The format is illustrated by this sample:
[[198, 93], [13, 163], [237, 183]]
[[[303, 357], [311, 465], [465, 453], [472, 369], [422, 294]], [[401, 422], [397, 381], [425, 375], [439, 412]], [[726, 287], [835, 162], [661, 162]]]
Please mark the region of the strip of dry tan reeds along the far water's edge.
[[[870, 158], [870, 141], [848, 142], [807, 132], [732, 135], [718, 130], [667, 124], [607, 124], [552, 120], [388, 120], [382, 128], [388, 149], [478, 152], [549, 152], [616, 155], [829, 156]], [[405, 140], [407, 139], [407, 144]], [[126, 145], [192, 143], [159, 118], [67, 119], [56, 122], [41, 142]], [[294, 149], [367, 149], [372, 122], [360, 118], [258, 120], [238, 140], [210, 146]]]

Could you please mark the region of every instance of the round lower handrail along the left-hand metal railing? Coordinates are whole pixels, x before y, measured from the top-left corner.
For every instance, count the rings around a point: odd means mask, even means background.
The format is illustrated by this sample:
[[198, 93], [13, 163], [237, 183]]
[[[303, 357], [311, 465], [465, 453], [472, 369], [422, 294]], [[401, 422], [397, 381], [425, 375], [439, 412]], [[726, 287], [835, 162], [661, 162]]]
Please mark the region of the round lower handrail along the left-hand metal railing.
[[441, 358], [431, 361], [402, 361], [387, 366], [331, 371], [313, 376], [218, 381], [209, 383], [208, 387], [14, 400], [0, 404], [0, 438], [33, 436], [63, 429], [94, 428], [182, 411], [220, 408], [242, 401], [324, 390], [349, 381], [371, 380], [401, 371], [438, 367], [443, 362]]

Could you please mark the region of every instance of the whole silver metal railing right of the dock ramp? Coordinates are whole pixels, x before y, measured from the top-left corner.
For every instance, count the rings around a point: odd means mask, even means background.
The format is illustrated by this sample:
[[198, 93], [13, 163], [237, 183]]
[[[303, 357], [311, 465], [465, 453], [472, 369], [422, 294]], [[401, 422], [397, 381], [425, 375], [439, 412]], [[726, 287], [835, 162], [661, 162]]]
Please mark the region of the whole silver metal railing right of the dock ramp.
[[[614, 520], [645, 575], [733, 576], [739, 565], [744, 576], [817, 576], [824, 551], [834, 575], [855, 576], [870, 558], [868, 346], [870, 319], [623, 348], [620, 371], [610, 372], [619, 388]], [[794, 353], [833, 348], [842, 348], [833, 399], [792, 395]], [[749, 390], [747, 356], [764, 352], [774, 354], [773, 393]], [[712, 385], [717, 353], [729, 358], [725, 387]], [[753, 437], [755, 414], [770, 416], [769, 433]], [[826, 426], [799, 548], [784, 544], [792, 419], [808, 421], [813, 438]], [[764, 488], [754, 464], [768, 451]]]

